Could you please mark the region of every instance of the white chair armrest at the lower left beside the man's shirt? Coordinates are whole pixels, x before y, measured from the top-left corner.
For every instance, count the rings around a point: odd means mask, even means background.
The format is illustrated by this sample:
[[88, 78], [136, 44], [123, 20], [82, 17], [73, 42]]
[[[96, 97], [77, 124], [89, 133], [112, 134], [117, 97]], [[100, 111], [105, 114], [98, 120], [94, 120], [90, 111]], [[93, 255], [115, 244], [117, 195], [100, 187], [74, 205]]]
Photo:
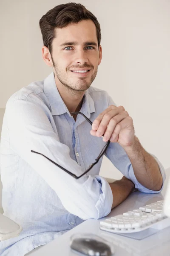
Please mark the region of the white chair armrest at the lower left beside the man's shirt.
[[0, 214], [0, 241], [18, 236], [22, 230], [19, 224]]

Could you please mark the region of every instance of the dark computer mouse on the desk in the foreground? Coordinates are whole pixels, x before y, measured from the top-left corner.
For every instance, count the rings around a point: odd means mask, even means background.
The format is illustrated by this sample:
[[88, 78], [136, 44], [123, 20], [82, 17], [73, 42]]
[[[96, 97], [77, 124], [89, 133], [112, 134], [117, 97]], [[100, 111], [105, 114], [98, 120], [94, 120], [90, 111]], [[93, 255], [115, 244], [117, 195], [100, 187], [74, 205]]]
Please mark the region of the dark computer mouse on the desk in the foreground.
[[99, 240], [93, 238], [75, 238], [72, 240], [71, 249], [76, 253], [82, 253], [88, 256], [111, 256], [111, 247]]

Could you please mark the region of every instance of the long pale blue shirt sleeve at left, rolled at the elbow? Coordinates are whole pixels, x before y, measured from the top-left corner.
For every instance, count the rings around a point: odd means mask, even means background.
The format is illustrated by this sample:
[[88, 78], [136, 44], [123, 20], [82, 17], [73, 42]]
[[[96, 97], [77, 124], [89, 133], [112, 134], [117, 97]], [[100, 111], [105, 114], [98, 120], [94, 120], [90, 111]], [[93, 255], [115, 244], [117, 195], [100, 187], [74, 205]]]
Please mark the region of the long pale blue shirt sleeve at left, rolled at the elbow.
[[86, 174], [76, 180], [45, 157], [31, 152], [44, 154], [77, 176], [83, 172], [81, 166], [71, 159], [68, 146], [59, 142], [45, 107], [30, 96], [8, 100], [5, 115], [11, 149], [54, 189], [68, 212], [84, 220], [108, 215], [113, 195], [105, 178]]

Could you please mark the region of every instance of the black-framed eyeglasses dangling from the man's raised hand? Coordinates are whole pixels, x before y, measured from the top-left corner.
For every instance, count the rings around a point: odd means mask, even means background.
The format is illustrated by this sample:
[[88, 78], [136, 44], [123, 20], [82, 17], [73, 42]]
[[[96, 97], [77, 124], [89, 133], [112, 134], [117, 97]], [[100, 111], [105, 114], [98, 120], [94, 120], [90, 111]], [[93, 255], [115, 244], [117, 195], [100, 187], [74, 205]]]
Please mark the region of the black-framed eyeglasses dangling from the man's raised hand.
[[[80, 114], [80, 115], [84, 116], [84, 118], [89, 122], [89, 124], [92, 125], [91, 120], [88, 119], [88, 117], [85, 116], [83, 113], [81, 113], [81, 112], [71, 112], [71, 114], [72, 114], [72, 115]], [[103, 137], [103, 136], [102, 136], [102, 137]], [[42, 155], [43, 157], [47, 158], [51, 163], [54, 163], [56, 166], [58, 166], [59, 168], [61, 168], [63, 171], [67, 172], [69, 175], [71, 175], [71, 176], [74, 177], [75, 179], [79, 179], [79, 178], [81, 178], [83, 175], [85, 175], [87, 172], [89, 172], [89, 171], [93, 168], [93, 166], [94, 166], [96, 163], [99, 162], [99, 159], [105, 154], [105, 152], [106, 152], [106, 150], [107, 150], [107, 148], [108, 148], [108, 146], [109, 146], [110, 143], [111, 143], [110, 140], [108, 140], [108, 142], [106, 143], [106, 145], [102, 148], [102, 151], [100, 152], [99, 156], [95, 159], [96, 162], [92, 163], [92, 164], [89, 166], [89, 168], [88, 168], [82, 175], [80, 175], [80, 176], [76, 176], [76, 175], [73, 174], [72, 172], [69, 172], [69, 171], [66, 170], [64, 167], [60, 166], [58, 163], [55, 163], [53, 160], [49, 159], [48, 157], [46, 157], [45, 155], [43, 155], [43, 154], [41, 154], [41, 153], [38, 153], [38, 152], [36, 152], [36, 151], [34, 151], [34, 150], [31, 150], [31, 152], [32, 152], [32, 153], [36, 153], [36, 154]]]

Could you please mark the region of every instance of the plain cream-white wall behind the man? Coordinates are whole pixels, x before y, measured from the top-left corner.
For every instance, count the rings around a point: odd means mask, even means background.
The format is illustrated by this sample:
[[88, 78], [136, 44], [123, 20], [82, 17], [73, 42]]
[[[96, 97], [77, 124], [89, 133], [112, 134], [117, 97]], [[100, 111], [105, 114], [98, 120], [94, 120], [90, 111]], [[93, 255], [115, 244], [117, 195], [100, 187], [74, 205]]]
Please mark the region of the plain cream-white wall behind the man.
[[[39, 20], [66, 2], [0, 1], [0, 108], [5, 108], [12, 93], [51, 73], [42, 61]], [[107, 90], [117, 105], [125, 107], [144, 148], [169, 167], [170, 1], [75, 2], [93, 12], [102, 29], [103, 59], [93, 85]], [[107, 160], [101, 173], [122, 177]]]

